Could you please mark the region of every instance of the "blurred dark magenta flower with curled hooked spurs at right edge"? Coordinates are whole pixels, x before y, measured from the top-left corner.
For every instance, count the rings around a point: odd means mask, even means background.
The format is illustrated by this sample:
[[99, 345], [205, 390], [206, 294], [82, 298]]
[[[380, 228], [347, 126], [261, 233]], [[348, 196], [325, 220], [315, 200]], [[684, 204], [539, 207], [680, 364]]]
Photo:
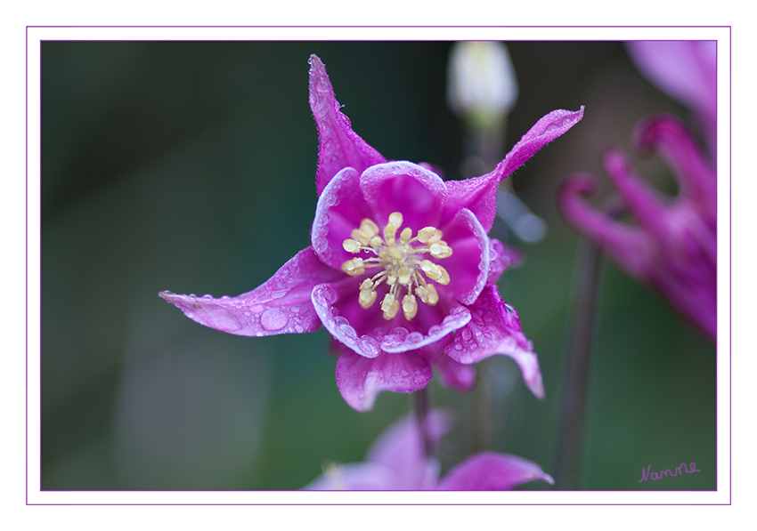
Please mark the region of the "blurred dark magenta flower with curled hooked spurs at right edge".
[[596, 189], [590, 175], [569, 177], [558, 192], [566, 221], [598, 243], [631, 277], [653, 286], [715, 341], [717, 182], [715, 172], [680, 121], [647, 119], [636, 131], [644, 151], [659, 151], [679, 183], [678, 197], [660, 197], [618, 149], [604, 159], [607, 175], [631, 216], [629, 225], [591, 208], [582, 196]]

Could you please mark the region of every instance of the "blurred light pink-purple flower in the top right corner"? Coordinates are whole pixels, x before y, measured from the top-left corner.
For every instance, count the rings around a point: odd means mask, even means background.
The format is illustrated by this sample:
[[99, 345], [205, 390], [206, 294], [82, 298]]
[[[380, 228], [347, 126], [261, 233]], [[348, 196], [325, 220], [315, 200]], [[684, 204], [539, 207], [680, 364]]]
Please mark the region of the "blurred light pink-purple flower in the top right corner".
[[630, 41], [631, 60], [657, 88], [691, 109], [714, 158], [717, 124], [715, 41]]

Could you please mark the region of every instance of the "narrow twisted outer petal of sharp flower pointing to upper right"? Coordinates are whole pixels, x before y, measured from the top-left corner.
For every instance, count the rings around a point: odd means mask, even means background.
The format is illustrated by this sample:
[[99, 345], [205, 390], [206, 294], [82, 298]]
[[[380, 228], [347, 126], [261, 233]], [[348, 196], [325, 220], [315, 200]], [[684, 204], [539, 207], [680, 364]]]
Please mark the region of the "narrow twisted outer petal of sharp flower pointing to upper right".
[[476, 214], [486, 232], [491, 230], [497, 212], [497, 187], [500, 182], [533, 157], [539, 149], [566, 133], [582, 117], [583, 106], [576, 112], [553, 110], [525, 133], [491, 173], [465, 181], [447, 181], [447, 202], [443, 218], [452, 217], [461, 208], [468, 208]]

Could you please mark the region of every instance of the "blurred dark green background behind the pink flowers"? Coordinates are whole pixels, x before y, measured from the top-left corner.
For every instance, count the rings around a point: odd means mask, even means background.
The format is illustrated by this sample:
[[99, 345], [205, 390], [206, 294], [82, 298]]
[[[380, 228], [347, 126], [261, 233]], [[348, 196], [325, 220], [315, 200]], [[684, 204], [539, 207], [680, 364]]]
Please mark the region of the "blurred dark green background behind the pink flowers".
[[[309, 245], [311, 53], [362, 138], [387, 158], [460, 178], [462, 129], [444, 95], [451, 45], [42, 44], [43, 489], [297, 489], [324, 462], [361, 461], [411, 410], [393, 393], [370, 413], [347, 406], [323, 329], [227, 335], [158, 292], [240, 294]], [[510, 178], [549, 226], [538, 244], [509, 241], [526, 260], [500, 283], [539, 354], [547, 399], [533, 398], [504, 357], [480, 366], [473, 394], [436, 380], [432, 394], [460, 419], [440, 450], [444, 469], [486, 447], [553, 472], [578, 242], [558, 216], [558, 183], [588, 171], [608, 193], [599, 157], [610, 142], [631, 151], [639, 119], [688, 115], [621, 43], [509, 51], [520, 95], [507, 149], [550, 110], [586, 106], [579, 125]], [[634, 161], [675, 193], [659, 157]], [[599, 310], [581, 487], [714, 489], [714, 348], [609, 264]], [[492, 398], [486, 414], [482, 396]], [[639, 483], [647, 465], [682, 462], [701, 473]]]

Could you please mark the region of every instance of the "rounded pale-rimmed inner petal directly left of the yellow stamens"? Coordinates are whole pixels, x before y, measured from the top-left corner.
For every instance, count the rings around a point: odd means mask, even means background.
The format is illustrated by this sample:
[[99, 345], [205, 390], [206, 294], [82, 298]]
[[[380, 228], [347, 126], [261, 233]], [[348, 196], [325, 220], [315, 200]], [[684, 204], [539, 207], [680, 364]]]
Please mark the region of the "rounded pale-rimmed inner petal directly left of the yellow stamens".
[[352, 258], [342, 246], [353, 229], [371, 212], [360, 191], [360, 173], [347, 167], [322, 190], [315, 206], [310, 240], [318, 257], [335, 270]]

